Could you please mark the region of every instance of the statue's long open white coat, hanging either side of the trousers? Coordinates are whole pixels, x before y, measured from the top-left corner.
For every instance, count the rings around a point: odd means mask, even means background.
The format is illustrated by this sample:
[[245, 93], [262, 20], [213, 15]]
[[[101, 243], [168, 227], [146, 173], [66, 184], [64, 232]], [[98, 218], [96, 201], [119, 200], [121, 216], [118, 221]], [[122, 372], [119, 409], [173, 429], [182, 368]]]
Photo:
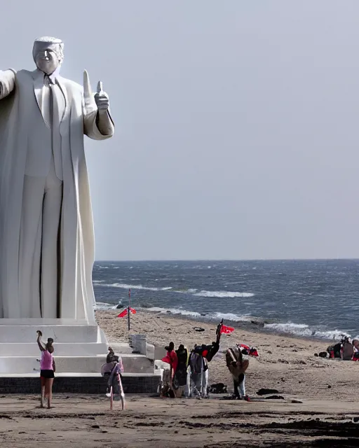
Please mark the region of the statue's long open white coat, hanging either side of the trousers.
[[[36, 71], [35, 71], [36, 72]], [[0, 71], [0, 318], [21, 318], [19, 238], [22, 189], [29, 141], [39, 134], [43, 119], [36, 99], [32, 71]], [[103, 140], [96, 125], [97, 106], [83, 98], [83, 87], [57, 77], [65, 97], [65, 113], [60, 123], [62, 141], [69, 151], [62, 154], [63, 202], [61, 232], [60, 317], [86, 319], [94, 323], [95, 302], [92, 284], [94, 262], [93, 214], [83, 148], [83, 134]], [[111, 117], [109, 116], [111, 119]], [[30, 138], [31, 137], [31, 138]], [[37, 139], [41, 145], [41, 138]], [[44, 148], [48, 152], [48, 148]]]

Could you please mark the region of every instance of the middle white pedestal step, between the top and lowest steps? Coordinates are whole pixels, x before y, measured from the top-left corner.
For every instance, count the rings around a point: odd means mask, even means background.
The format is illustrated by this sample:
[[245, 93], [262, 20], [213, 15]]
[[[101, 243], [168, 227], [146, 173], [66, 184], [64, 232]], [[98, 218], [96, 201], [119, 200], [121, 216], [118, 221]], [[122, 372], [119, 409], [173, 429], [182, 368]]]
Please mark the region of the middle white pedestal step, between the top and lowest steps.
[[[81, 356], [104, 356], [107, 353], [107, 344], [102, 342], [55, 342], [54, 349], [54, 356], [74, 356], [74, 353], [79, 353]], [[36, 342], [7, 342], [0, 344], [0, 356], [36, 356], [39, 358], [41, 351]]]

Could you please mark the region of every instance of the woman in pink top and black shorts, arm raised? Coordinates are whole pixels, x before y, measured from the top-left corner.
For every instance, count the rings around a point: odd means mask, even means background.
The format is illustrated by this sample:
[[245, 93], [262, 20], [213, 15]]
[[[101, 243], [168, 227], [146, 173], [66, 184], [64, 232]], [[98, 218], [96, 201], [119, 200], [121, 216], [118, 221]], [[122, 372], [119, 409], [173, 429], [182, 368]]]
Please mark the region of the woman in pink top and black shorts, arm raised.
[[41, 350], [40, 361], [40, 379], [41, 379], [41, 407], [43, 400], [48, 398], [48, 409], [51, 407], [53, 398], [53, 379], [55, 377], [55, 361], [53, 360], [53, 339], [48, 338], [48, 342], [44, 346], [40, 338], [41, 331], [37, 331], [37, 344]]

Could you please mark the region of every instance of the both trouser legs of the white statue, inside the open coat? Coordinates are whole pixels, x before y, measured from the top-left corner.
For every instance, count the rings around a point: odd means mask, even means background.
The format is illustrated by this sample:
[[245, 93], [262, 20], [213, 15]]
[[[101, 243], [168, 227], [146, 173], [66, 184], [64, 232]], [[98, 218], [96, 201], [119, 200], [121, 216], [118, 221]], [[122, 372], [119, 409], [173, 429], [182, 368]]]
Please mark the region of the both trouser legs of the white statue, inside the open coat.
[[[20, 310], [18, 316], [9, 317], [57, 317], [57, 235], [61, 203], [62, 181], [56, 178], [53, 164], [47, 178], [25, 176], [19, 253]], [[45, 271], [42, 275], [41, 267]]]

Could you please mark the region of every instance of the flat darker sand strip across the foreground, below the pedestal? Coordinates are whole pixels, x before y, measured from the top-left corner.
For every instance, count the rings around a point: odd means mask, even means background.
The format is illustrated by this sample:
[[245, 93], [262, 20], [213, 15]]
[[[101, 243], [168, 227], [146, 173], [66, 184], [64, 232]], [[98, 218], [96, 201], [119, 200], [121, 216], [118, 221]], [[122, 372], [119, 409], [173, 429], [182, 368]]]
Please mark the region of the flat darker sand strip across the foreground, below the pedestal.
[[[1, 447], [356, 447], [358, 405], [336, 400], [252, 402], [98, 396], [1, 398]], [[5, 410], [6, 409], [6, 410]], [[355, 419], [356, 420], [356, 419]]]

